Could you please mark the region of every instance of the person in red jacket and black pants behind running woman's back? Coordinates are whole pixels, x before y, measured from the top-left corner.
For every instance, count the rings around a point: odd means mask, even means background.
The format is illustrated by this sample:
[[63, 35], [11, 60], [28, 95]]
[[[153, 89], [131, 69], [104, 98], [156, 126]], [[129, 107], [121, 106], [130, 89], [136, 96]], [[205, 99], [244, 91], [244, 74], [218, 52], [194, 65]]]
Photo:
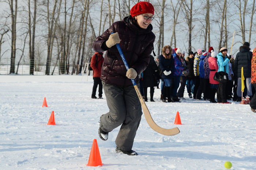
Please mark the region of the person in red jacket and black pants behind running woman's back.
[[104, 61], [102, 52], [95, 52], [91, 57], [91, 68], [93, 69], [93, 92], [91, 93], [92, 99], [97, 99], [96, 90], [99, 85], [99, 99], [102, 98], [102, 83], [101, 83], [101, 67]]

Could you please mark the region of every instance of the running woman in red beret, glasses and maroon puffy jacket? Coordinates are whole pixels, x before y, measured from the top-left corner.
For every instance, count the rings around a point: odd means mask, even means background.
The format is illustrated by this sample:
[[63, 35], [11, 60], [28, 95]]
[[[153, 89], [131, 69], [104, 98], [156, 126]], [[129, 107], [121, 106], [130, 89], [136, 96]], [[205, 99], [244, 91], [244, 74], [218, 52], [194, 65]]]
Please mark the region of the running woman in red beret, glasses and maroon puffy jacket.
[[[100, 118], [99, 137], [106, 141], [108, 133], [121, 125], [116, 138], [116, 152], [138, 155], [132, 146], [142, 108], [131, 79], [135, 79], [139, 85], [138, 75], [147, 68], [150, 61], [155, 40], [150, 24], [154, 19], [154, 7], [148, 2], [139, 2], [132, 7], [130, 13], [130, 16], [113, 23], [97, 37], [93, 48], [96, 52], [106, 51], [101, 80], [109, 112]], [[120, 44], [129, 70], [126, 70], [115, 46], [117, 43]]]

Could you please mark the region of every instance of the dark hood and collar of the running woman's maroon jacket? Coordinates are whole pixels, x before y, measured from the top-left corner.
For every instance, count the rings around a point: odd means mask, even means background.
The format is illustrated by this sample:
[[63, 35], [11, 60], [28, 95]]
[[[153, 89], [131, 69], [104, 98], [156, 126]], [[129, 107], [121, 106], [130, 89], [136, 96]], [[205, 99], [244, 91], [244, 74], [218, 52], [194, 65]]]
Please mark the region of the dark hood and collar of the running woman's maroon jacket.
[[125, 17], [123, 21], [126, 25], [128, 25], [129, 28], [131, 28], [133, 31], [138, 32], [139, 34], [144, 34], [151, 32], [153, 29], [153, 26], [151, 24], [148, 25], [146, 29], [140, 28], [139, 25], [133, 22], [133, 17], [131, 15]]

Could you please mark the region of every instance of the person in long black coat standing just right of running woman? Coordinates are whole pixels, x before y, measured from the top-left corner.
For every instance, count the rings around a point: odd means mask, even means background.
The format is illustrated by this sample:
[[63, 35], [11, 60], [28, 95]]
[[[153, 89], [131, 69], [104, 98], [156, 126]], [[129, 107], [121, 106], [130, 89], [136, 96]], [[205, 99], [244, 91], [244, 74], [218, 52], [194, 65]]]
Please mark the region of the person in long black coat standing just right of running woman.
[[155, 102], [153, 99], [154, 96], [154, 87], [157, 86], [157, 63], [155, 63], [154, 57], [150, 55], [150, 62], [143, 71], [143, 91], [144, 91], [144, 101], [147, 102], [147, 88], [150, 87], [150, 102]]

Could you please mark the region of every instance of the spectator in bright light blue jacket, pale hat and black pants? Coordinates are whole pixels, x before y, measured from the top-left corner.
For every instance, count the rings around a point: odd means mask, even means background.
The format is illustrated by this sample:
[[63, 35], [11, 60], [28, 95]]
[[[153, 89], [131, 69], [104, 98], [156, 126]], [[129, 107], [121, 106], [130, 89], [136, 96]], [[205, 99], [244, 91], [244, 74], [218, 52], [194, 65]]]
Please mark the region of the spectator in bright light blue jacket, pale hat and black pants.
[[[221, 47], [219, 54], [217, 55], [217, 64], [219, 66], [218, 72], [224, 71], [229, 74], [229, 60], [230, 58], [227, 58], [227, 48]], [[230, 104], [230, 102], [227, 102], [226, 99], [226, 83], [219, 82], [219, 87], [217, 90], [217, 103]]]

